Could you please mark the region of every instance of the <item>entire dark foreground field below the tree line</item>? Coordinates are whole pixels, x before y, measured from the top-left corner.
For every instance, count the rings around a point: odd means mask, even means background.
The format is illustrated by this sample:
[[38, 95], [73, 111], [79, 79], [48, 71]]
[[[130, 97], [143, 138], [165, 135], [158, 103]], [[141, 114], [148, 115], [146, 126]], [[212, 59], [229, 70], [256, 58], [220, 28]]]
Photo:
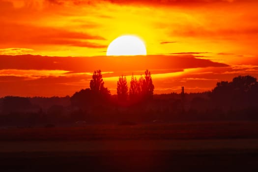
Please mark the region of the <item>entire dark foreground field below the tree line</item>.
[[258, 171], [256, 122], [4, 128], [0, 140], [1, 172]]

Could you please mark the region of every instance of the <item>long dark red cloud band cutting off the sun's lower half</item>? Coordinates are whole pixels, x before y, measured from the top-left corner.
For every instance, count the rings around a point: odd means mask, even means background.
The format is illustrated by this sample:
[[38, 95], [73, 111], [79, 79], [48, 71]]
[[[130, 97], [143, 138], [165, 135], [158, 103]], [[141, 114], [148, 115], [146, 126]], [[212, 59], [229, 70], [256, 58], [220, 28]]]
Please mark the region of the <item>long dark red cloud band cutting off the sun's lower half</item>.
[[[89, 65], [90, 64], [90, 65]], [[42, 57], [32, 55], [0, 56], [1, 69], [23, 70], [65, 70], [74, 72], [103, 71], [142, 71], [144, 69], [174, 70], [200, 67], [225, 67], [224, 63], [208, 59], [185, 56], [131, 56], [131, 57]]]

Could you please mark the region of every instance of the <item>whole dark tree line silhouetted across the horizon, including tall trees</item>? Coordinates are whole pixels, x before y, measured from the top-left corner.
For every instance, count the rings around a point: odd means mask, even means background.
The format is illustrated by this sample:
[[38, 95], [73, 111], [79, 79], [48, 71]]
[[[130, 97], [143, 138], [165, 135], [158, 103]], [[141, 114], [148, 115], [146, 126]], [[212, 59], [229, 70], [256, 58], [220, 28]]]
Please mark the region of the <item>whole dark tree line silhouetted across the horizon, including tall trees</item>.
[[117, 81], [117, 95], [105, 87], [100, 70], [94, 71], [89, 88], [63, 98], [0, 98], [0, 125], [75, 123], [136, 123], [185, 120], [258, 120], [258, 82], [252, 76], [221, 81], [202, 93], [153, 95], [148, 70], [140, 78]]

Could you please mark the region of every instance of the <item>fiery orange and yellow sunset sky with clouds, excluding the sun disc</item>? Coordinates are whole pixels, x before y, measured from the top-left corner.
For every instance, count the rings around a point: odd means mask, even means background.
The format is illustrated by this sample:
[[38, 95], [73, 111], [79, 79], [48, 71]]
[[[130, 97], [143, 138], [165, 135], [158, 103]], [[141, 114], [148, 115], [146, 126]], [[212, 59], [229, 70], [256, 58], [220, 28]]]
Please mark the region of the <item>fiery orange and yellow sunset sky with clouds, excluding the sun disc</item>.
[[[66, 96], [101, 69], [106, 87], [151, 72], [154, 93], [258, 77], [257, 0], [0, 0], [0, 97]], [[107, 57], [136, 35], [147, 56]]]

